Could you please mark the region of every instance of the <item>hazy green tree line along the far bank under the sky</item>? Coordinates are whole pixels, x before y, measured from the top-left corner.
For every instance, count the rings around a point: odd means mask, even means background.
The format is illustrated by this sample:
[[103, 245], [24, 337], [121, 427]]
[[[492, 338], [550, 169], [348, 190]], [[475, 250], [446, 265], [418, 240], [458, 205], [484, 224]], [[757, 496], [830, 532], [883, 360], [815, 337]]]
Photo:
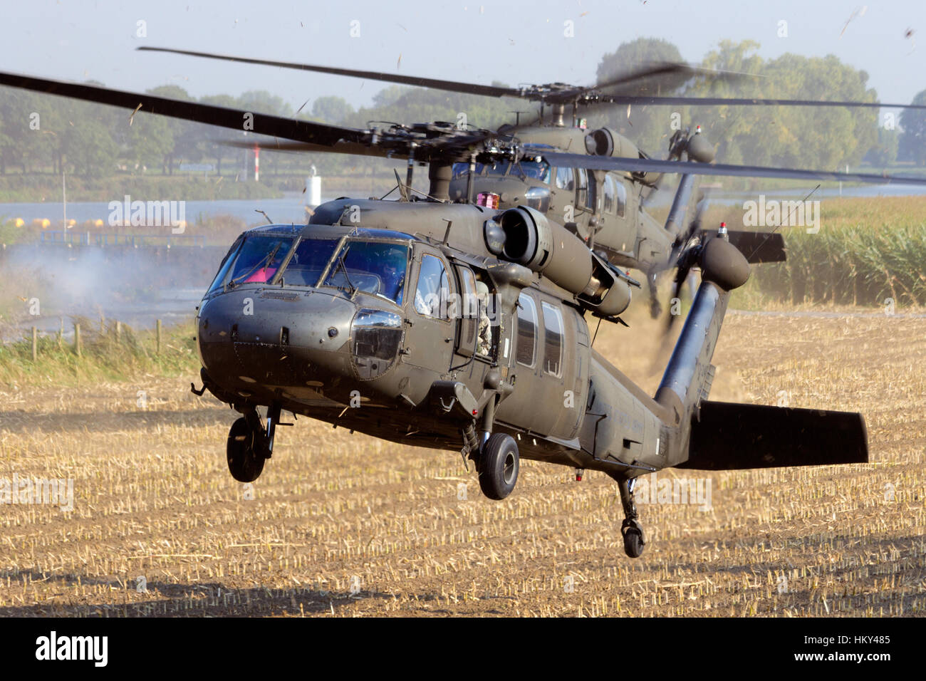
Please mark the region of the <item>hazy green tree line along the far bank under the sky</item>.
[[[663, 76], [622, 90], [628, 95], [692, 95], [790, 99], [875, 101], [868, 74], [833, 56], [786, 54], [763, 59], [752, 41], [724, 41], [702, 59], [708, 69], [748, 76], [685, 78]], [[663, 40], [641, 38], [620, 44], [598, 65], [599, 82], [626, 73], [639, 64], [682, 61], [678, 48]], [[552, 75], [552, 74], [551, 74]], [[501, 83], [498, 83], [501, 84]], [[178, 85], [163, 85], [152, 95], [193, 100]], [[369, 107], [355, 109], [342, 97], [319, 96], [311, 107], [294, 110], [282, 97], [264, 91], [240, 96], [209, 95], [196, 101], [277, 116], [317, 120], [351, 127], [372, 121], [447, 120], [495, 129], [536, 116], [537, 105], [518, 99], [494, 99], [436, 90], [390, 86], [375, 95]], [[926, 104], [926, 90], [914, 104]], [[590, 108], [580, 116], [589, 127], [607, 125], [654, 157], [665, 154], [679, 121], [700, 124], [718, 146], [725, 163], [839, 169], [862, 162], [884, 167], [896, 161], [926, 165], [926, 112], [896, 115], [878, 109], [837, 107], [609, 107]], [[67, 171], [105, 179], [117, 172], [171, 174], [182, 163], [209, 164], [221, 174], [247, 168], [250, 152], [228, 145], [240, 143], [244, 131], [214, 128], [87, 102], [0, 88], [0, 174]], [[300, 172], [316, 166], [324, 175], [344, 175], [357, 168], [376, 168], [380, 159], [339, 155], [265, 154], [263, 173]], [[383, 168], [387, 166], [383, 165]]]

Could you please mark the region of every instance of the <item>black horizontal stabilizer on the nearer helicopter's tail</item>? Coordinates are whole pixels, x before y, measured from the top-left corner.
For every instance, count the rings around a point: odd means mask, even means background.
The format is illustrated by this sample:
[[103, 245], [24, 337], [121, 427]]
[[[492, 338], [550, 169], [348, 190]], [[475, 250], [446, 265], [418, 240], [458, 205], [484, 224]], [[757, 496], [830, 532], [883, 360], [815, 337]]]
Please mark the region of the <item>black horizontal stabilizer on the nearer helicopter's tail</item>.
[[678, 468], [747, 468], [867, 463], [865, 420], [851, 411], [701, 403], [688, 460]]

